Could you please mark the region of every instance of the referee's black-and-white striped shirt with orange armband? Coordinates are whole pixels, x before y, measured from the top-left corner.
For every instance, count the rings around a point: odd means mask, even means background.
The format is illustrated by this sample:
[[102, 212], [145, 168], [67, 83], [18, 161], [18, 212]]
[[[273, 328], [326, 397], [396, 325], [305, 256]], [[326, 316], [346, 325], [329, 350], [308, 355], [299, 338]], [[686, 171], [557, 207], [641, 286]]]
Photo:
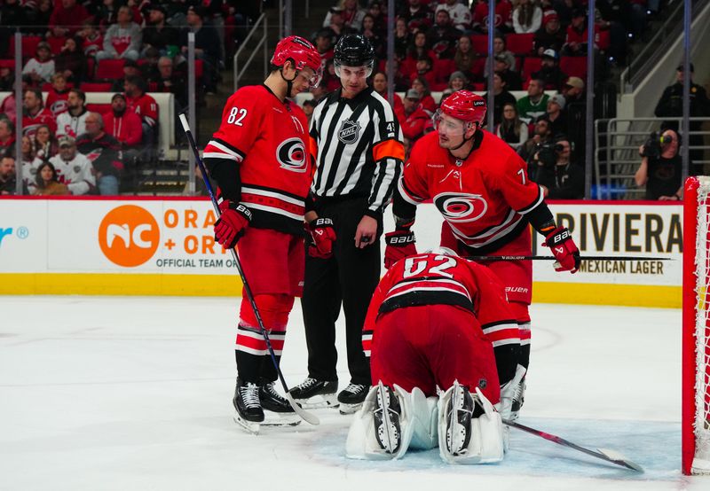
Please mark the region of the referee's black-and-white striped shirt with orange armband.
[[367, 88], [351, 99], [335, 90], [313, 111], [311, 192], [323, 198], [365, 198], [366, 214], [383, 214], [402, 170], [402, 130], [390, 104]]

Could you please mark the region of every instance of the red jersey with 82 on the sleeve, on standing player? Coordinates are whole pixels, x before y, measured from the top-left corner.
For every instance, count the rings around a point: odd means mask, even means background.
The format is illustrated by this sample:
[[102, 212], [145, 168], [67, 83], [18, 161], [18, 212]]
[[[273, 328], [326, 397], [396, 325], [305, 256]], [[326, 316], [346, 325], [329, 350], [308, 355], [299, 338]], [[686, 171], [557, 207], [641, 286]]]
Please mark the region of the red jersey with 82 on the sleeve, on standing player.
[[265, 85], [248, 86], [227, 100], [204, 158], [239, 165], [241, 203], [253, 214], [252, 227], [301, 235], [312, 178], [309, 142], [298, 105], [281, 102]]

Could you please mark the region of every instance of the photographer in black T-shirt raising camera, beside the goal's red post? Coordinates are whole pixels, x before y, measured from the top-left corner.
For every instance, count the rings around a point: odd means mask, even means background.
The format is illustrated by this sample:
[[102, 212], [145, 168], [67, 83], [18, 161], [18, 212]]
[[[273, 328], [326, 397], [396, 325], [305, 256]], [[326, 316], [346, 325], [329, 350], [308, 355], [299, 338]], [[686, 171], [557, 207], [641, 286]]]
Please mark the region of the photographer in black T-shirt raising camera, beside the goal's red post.
[[682, 193], [682, 159], [678, 154], [680, 136], [667, 129], [659, 137], [651, 133], [638, 149], [642, 157], [634, 179], [636, 185], [646, 186], [646, 199], [680, 201]]

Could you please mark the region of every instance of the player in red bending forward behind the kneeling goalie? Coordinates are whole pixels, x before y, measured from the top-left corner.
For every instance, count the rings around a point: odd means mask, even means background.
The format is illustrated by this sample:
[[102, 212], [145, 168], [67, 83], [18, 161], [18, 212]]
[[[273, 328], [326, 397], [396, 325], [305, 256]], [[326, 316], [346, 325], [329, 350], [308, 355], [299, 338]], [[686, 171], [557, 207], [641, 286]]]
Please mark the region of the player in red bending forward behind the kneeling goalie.
[[[558, 227], [525, 162], [501, 138], [482, 129], [485, 99], [454, 92], [435, 115], [437, 131], [414, 144], [394, 196], [396, 230], [385, 235], [385, 267], [416, 253], [416, 205], [431, 199], [443, 215], [441, 246], [461, 256], [530, 255], [529, 224], [545, 237], [557, 271], [576, 272], [580, 252], [570, 231]], [[506, 287], [520, 329], [521, 364], [530, 358], [531, 261], [485, 261]], [[525, 380], [517, 388], [523, 392]], [[522, 395], [520, 396], [522, 404]], [[517, 417], [515, 408], [512, 417]]]

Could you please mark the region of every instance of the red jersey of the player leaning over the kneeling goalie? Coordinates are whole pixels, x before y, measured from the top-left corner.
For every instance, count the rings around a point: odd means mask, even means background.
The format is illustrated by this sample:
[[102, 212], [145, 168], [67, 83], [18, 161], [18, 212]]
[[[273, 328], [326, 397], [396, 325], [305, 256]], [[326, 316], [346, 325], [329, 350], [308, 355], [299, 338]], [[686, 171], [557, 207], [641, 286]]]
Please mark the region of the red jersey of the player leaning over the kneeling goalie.
[[490, 253], [517, 238], [523, 215], [542, 202], [525, 162], [501, 138], [484, 129], [474, 150], [456, 160], [438, 144], [438, 133], [422, 136], [406, 162], [399, 194], [418, 205], [432, 199], [454, 236], [478, 253]]

